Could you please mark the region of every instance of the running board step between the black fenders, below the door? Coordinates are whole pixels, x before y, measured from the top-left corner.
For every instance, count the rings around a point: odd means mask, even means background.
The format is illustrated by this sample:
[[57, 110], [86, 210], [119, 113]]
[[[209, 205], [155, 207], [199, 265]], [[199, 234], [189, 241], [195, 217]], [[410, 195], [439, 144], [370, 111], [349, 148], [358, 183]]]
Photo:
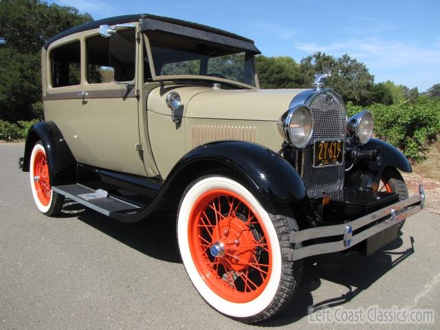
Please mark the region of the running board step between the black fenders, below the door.
[[91, 208], [96, 212], [100, 212], [107, 217], [111, 217], [113, 212], [139, 212], [143, 206], [137, 203], [124, 201], [118, 197], [108, 195], [108, 197], [85, 199], [79, 195], [92, 195], [96, 190], [83, 186], [82, 184], [68, 184], [65, 186], [53, 186], [52, 190], [58, 192], [58, 194], [76, 201], [87, 208]]

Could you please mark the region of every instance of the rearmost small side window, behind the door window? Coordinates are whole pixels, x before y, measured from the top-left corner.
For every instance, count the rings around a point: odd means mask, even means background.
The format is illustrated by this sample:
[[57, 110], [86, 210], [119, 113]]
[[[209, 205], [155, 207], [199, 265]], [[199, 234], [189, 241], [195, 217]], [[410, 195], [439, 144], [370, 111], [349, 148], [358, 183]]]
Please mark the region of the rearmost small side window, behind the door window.
[[80, 84], [80, 50], [79, 41], [52, 50], [52, 87]]

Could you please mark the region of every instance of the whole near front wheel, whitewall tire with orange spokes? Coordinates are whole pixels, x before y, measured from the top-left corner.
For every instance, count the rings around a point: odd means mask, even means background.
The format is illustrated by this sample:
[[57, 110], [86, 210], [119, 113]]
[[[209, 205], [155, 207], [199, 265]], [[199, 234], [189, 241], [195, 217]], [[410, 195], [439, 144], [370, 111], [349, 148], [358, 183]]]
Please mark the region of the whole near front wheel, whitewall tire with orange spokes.
[[302, 263], [288, 261], [288, 208], [263, 208], [239, 179], [207, 175], [184, 192], [177, 240], [199, 294], [222, 314], [254, 323], [274, 316], [294, 294]]

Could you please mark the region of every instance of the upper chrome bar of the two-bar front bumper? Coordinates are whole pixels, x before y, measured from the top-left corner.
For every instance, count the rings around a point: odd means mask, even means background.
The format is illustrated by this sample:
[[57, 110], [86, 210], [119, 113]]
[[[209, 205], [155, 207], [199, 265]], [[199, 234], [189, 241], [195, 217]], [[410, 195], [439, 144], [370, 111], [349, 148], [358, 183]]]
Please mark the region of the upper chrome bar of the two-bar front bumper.
[[[299, 232], [292, 232], [292, 234], [290, 235], [290, 242], [299, 243], [303, 241], [308, 241], [309, 239], [320, 239], [322, 237], [342, 235], [347, 225], [351, 225], [353, 230], [357, 230], [358, 228], [364, 227], [364, 225], [368, 225], [369, 223], [380, 220], [390, 215], [391, 210], [393, 209], [397, 212], [398, 210], [419, 203], [419, 201], [421, 201], [421, 195], [415, 195], [408, 199], [405, 199], [404, 201], [398, 201], [397, 203], [391, 204], [386, 208], [382, 208], [373, 213], [366, 214], [364, 217], [355, 219], [350, 223], [342, 223], [340, 225], [326, 225], [325, 227], [309, 228], [306, 230], [300, 230]], [[398, 217], [398, 215], [396, 215], [396, 218]]]

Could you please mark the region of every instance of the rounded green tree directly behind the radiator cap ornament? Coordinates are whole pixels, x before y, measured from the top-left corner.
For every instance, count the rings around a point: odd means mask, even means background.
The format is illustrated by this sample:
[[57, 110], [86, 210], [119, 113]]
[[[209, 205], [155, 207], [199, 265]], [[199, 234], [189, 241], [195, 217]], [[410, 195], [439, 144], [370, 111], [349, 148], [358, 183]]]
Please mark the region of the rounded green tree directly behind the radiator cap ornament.
[[327, 85], [333, 87], [346, 102], [366, 105], [369, 90], [373, 87], [374, 76], [369, 73], [364, 63], [344, 54], [340, 58], [316, 52], [303, 58], [300, 72], [305, 76], [306, 83], [301, 87], [311, 87], [314, 75], [319, 72], [330, 72]]

